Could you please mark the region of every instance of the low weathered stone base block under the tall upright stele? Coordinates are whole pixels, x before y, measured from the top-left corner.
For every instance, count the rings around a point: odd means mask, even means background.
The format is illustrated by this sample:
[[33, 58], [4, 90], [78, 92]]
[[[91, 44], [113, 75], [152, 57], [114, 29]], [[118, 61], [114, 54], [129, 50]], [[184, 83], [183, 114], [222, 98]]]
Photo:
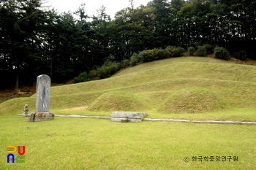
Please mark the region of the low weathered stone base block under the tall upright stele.
[[40, 122], [44, 120], [53, 120], [54, 114], [51, 112], [33, 112], [29, 114], [29, 122]]

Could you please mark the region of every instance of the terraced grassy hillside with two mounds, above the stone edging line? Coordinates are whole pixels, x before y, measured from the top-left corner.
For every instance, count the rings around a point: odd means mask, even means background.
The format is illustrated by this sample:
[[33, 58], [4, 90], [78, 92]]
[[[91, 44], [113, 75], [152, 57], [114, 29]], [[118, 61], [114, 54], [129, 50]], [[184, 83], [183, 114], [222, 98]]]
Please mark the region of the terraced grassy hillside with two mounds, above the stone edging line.
[[[50, 112], [104, 115], [111, 110], [148, 117], [256, 121], [256, 69], [215, 58], [170, 58], [121, 70], [105, 80], [50, 89]], [[0, 104], [0, 115], [34, 112], [35, 95]]]

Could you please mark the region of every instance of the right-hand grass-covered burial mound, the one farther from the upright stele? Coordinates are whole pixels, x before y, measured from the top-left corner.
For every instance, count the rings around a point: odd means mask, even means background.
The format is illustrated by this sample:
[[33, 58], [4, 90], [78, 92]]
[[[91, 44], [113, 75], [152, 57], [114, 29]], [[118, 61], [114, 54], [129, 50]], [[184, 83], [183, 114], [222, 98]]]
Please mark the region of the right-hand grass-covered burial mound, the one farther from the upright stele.
[[229, 105], [216, 93], [204, 88], [185, 88], [171, 94], [159, 107], [159, 112], [199, 113], [228, 109]]

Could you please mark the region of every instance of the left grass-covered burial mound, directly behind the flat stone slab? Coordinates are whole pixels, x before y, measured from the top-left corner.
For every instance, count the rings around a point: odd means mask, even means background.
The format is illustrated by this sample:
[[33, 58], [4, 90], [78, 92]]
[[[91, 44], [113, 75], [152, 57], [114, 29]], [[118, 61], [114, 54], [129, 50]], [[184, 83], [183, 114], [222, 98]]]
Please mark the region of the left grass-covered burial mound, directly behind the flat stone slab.
[[90, 111], [144, 111], [149, 109], [146, 102], [138, 96], [115, 90], [99, 96], [88, 108]]

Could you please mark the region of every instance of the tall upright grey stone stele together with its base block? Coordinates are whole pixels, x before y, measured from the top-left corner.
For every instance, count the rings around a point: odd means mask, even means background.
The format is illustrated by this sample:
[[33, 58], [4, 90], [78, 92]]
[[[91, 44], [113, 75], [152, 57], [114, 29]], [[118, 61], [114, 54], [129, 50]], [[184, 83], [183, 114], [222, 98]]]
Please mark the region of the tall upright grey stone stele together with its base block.
[[39, 122], [43, 120], [53, 120], [54, 114], [49, 112], [50, 103], [50, 77], [39, 75], [37, 77], [37, 98], [36, 112], [29, 115], [29, 122]]

